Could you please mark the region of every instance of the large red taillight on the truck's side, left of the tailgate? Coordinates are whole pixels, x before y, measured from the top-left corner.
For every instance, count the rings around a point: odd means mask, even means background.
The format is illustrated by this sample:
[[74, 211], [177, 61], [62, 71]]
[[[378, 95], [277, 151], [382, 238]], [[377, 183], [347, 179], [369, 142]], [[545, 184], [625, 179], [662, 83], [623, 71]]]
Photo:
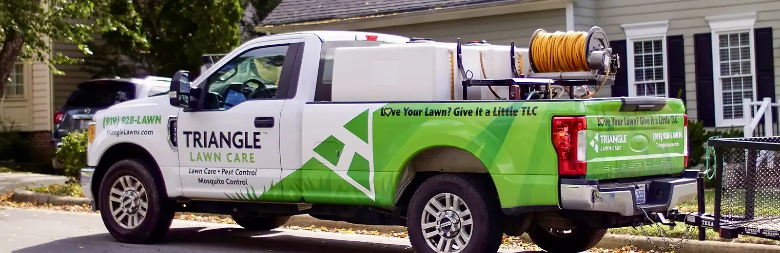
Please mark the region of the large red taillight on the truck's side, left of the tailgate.
[[553, 117], [552, 146], [558, 153], [558, 174], [584, 175], [587, 171], [585, 117]]

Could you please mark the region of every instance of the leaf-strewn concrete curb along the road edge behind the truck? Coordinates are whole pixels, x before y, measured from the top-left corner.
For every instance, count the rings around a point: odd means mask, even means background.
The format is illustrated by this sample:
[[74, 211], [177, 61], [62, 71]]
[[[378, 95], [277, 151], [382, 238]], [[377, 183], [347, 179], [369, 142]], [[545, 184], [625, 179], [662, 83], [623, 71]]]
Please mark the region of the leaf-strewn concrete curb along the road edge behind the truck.
[[[87, 198], [65, 197], [50, 195], [45, 193], [32, 192], [25, 189], [16, 189], [11, 195], [11, 199], [15, 202], [34, 202], [41, 204], [51, 204], [54, 206], [65, 205], [90, 205], [90, 200]], [[214, 215], [214, 214], [201, 214], [192, 213], [202, 216], [219, 216], [221, 218], [229, 218], [229, 215]], [[290, 219], [283, 225], [287, 227], [328, 227], [328, 228], [342, 228], [353, 230], [376, 230], [381, 233], [401, 233], [406, 232], [406, 227], [402, 226], [379, 226], [379, 225], [360, 225], [347, 223], [344, 221], [332, 221], [332, 220], [319, 220], [307, 214], [301, 214], [291, 216]], [[530, 242], [530, 238], [527, 234], [520, 236], [523, 241]], [[666, 246], [664, 239], [660, 237], [651, 237], [654, 244], [659, 246]], [[672, 243], [679, 241], [679, 239], [672, 239]], [[633, 245], [636, 248], [643, 249], [645, 251], [655, 250], [653, 244], [647, 241], [646, 237], [636, 235], [624, 235], [624, 234], [606, 234], [601, 241], [596, 244], [596, 248], [622, 248], [626, 245]], [[688, 243], [674, 250], [676, 253], [777, 253], [780, 252], [780, 246], [768, 245], [768, 244], [746, 244], [736, 242], [724, 242], [724, 241], [697, 241], [690, 240]]]

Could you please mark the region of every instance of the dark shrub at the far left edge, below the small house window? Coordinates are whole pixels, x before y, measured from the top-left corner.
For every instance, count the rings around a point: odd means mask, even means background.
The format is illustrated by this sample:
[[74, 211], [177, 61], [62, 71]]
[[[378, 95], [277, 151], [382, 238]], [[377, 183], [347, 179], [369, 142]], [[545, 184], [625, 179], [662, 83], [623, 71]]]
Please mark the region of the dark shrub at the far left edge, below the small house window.
[[16, 122], [0, 118], [0, 160], [29, 162], [32, 160], [32, 143]]

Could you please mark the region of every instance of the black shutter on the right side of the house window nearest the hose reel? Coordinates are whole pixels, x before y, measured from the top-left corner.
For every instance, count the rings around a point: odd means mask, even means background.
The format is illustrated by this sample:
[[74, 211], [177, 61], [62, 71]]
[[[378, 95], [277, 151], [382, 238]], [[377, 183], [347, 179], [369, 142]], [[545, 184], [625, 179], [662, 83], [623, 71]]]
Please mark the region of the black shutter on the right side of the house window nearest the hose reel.
[[683, 43], [683, 35], [666, 37], [666, 63], [668, 97], [679, 98], [685, 104], [685, 44]]

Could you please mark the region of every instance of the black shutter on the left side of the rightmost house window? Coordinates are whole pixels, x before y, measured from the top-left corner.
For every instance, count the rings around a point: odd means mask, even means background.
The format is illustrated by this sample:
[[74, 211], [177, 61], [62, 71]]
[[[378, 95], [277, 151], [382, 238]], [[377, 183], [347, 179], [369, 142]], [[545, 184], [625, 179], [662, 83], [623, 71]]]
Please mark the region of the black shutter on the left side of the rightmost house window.
[[693, 34], [696, 65], [696, 110], [704, 126], [715, 126], [714, 76], [712, 73], [712, 33]]

